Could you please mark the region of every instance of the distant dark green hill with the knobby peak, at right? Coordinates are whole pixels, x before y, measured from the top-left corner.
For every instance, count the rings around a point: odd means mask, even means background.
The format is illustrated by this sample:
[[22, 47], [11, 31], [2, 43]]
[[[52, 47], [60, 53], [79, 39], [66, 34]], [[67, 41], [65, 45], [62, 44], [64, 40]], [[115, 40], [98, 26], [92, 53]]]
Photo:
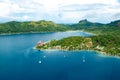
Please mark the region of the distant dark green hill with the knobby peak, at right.
[[120, 35], [120, 20], [112, 21], [108, 24], [92, 23], [87, 19], [79, 21], [77, 24], [70, 25], [73, 30], [84, 30], [95, 34], [114, 34]]

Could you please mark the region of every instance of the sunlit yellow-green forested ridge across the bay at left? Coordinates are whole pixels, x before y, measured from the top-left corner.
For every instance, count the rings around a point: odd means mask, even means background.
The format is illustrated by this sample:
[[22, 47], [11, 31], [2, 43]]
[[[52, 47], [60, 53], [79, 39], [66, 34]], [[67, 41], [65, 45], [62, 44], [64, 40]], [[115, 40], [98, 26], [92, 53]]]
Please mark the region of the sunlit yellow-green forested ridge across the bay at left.
[[29, 21], [29, 22], [17, 22], [11, 21], [0, 24], [0, 34], [2, 33], [23, 33], [23, 32], [54, 32], [54, 31], [66, 31], [68, 27], [64, 24], [56, 24], [52, 21]]

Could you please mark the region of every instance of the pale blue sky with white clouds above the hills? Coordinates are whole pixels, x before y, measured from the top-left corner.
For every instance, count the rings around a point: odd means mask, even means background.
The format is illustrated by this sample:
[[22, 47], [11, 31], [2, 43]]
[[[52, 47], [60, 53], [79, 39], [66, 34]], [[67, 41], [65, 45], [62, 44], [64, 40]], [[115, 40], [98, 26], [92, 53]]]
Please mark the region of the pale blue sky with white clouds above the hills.
[[109, 23], [120, 19], [120, 0], [0, 0], [0, 22]]

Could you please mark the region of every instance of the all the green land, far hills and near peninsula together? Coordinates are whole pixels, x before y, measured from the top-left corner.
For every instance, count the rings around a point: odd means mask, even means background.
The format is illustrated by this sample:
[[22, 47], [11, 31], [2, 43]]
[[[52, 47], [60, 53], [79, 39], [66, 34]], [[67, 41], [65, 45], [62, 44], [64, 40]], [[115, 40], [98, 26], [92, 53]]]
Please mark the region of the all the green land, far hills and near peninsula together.
[[56, 24], [52, 21], [11, 21], [0, 24], [0, 34], [25, 32], [55, 32], [67, 30], [83, 30], [97, 34], [90, 37], [68, 37], [61, 40], [52, 40], [37, 49], [61, 50], [97, 50], [120, 56], [120, 20], [108, 24], [92, 23], [87, 19], [77, 24]]

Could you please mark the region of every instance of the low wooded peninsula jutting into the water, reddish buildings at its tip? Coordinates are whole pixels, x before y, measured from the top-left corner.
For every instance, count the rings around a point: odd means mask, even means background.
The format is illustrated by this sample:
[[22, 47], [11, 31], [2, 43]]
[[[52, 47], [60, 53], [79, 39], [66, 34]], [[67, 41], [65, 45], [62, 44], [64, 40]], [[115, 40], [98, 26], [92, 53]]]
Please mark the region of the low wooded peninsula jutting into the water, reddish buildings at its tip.
[[120, 37], [94, 35], [89, 37], [71, 36], [49, 42], [38, 42], [37, 50], [95, 50], [104, 54], [120, 56]]

